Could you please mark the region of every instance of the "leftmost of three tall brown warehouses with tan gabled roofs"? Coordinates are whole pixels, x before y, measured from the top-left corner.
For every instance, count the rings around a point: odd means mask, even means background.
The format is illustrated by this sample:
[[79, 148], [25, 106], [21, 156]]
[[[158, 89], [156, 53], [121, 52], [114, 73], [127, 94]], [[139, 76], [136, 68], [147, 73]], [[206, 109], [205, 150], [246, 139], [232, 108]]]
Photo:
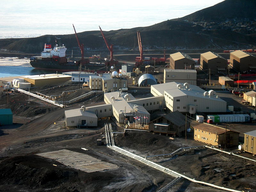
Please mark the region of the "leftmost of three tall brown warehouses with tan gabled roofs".
[[170, 54], [171, 69], [195, 69], [195, 61], [187, 54], [177, 52]]

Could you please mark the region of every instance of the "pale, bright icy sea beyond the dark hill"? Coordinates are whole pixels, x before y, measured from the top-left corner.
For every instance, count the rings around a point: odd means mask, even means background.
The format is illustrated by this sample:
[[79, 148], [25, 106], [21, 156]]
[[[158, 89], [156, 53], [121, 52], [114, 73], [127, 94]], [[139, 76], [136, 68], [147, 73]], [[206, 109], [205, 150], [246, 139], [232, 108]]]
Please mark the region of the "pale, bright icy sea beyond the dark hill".
[[0, 39], [154, 25], [186, 16], [222, 0], [30, 1], [1, 0]]

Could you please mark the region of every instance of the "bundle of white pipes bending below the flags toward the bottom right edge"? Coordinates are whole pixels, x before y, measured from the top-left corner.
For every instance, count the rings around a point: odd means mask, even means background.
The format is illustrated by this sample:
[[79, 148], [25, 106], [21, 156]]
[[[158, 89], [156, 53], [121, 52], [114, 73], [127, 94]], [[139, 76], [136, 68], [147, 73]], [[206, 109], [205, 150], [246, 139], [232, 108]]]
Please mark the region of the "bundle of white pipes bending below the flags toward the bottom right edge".
[[210, 186], [210, 187], [213, 187], [213, 188], [218, 188], [218, 189], [222, 189], [222, 190], [226, 190], [226, 191], [231, 191], [231, 192], [241, 192], [241, 191], [237, 191], [237, 190], [234, 190], [234, 189], [229, 189], [229, 188], [224, 188], [224, 187], [220, 187], [220, 186], [217, 186], [217, 185], [213, 185], [211, 183], [206, 183], [206, 182], [203, 182], [203, 181], [197, 181], [195, 179], [191, 179], [185, 175], [182, 175], [178, 172], [174, 172], [166, 167], [163, 167], [161, 165], [158, 165], [152, 161], [149, 161], [141, 156], [138, 156], [138, 155], [135, 155], [129, 151], [126, 151], [122, 148], [119, 148], [117, 146], [115, 146], [115, 142], [114, 142], [114, 138], [113, 138], [113, 131], [112, 131], [112, 126], [110, 123], [108, 124], [105, 124], [105, 134], [106, 134], [106, 142], [107, 142], [107, 147], [108, 148], [111, 148], [112, 150], [118, 152], [118, 153], [121, 153], [125, 156], [129, 156], [143, 164], [146, 164], [150, 167], [153, 167], [159, 171], [162, 171], [168, 175], [171, 175], [172, 177], [175, 177], [175, 178], [178, 178], [178, 177], [183, 177], [184, 179], [187, 179], [189, 181], [192, 181], [194, 183], [200, 183], [200, 184], [204, 184], [204, 185], [207, 185], [207, 186]]

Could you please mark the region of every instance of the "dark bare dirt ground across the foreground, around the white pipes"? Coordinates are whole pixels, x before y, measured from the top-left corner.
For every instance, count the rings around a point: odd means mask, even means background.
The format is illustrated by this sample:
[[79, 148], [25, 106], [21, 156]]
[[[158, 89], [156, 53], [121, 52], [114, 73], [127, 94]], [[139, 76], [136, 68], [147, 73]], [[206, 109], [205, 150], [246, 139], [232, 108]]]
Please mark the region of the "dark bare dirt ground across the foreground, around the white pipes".
[[[77, 89], [77, 85], [70, 84], [49, 90], [51, 87], [53, 86], [49, 85], [31, 91], [46, 95], [70, 91], [70, 98], [90, 91], [84, 88], [71, 92]], [[136, 98], [148, 96], [150, 93], [134, 94]], [[104, 123], [111, 122], [115, 130], [124, 131], [115, 121], [100, 120], [97, 128], [69, 129], [65, 126], [65, 110], [80, 108], [81, 105], [87, 107], [94, 106], [95, 103], [104, 104], [102, 96], [81, 100], [67, 108], [59, 108], [35, 98], [30, 98], [29, 101], [28, 103], [28, 95], [15, 93], [9, 95], [7, 104], [6, 93], [0, 92], [0, 107], [11, 108], [14, 114], [13, 125], [0, 127], [0, 191], [153, 192], [174, 179], [120, 155], [106, 145], [97, 146], [97, 139], [105, 137]], [[253, 128], [253, 124], [250, 126], [248, 125], [248, 130]], [[116, 134], [114, 138], [117, 146], [143, 157], [171, 153], [181, 147], [199, 146], [181, 150], [173, 156], [151, 157], [149, 160], [196, 180], [241, 191], [256, 191], [256, 166], [253, 161], [200, 147], [204, 144], [194, 141], [193, 133], [188, 133], [187, 140], [183, 136], [170, 140], [164, 135], [139, 131]], [[86, 173], [36, 155], [60, 149], [84, 153], [119, 167], [111, 171]], [[254, 158], [248, 153], [240, 155]], [[221, 190], [180, 180], [168, 191]]]

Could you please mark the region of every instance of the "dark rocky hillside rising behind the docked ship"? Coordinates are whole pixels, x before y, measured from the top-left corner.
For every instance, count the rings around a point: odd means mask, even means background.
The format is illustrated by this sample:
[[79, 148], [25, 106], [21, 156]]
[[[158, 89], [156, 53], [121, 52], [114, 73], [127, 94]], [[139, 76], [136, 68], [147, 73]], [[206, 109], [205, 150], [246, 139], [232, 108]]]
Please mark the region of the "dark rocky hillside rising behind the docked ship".
[[[104, 32], [114, 49], [138, 49], [140, 31], [143, 49], [248, 49], [256, 48], [256, 1], [226, 0], [183, 18], [148, 27]], [[0, 51], [36, 53], [45, 42], [54, 44], [56, 35], [35, 38], [0, 39]], [[100, 31], [78, 34], [86, 50], [106, 50]], [[61, 44], [78, 50], [76, 37], [59, 35]]]

